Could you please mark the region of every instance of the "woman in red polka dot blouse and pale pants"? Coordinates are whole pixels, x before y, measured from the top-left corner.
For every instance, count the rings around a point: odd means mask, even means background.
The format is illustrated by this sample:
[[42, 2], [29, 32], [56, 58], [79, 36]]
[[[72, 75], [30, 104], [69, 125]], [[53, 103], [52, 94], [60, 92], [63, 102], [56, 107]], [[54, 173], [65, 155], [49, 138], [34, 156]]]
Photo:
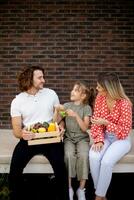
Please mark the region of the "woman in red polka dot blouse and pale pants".
[[113, 166], [131, 148], [132, 103], [115, 73], [101, 73], [91, 118], [93, 145], [89, 151], [95, 200], [106, 199]]

